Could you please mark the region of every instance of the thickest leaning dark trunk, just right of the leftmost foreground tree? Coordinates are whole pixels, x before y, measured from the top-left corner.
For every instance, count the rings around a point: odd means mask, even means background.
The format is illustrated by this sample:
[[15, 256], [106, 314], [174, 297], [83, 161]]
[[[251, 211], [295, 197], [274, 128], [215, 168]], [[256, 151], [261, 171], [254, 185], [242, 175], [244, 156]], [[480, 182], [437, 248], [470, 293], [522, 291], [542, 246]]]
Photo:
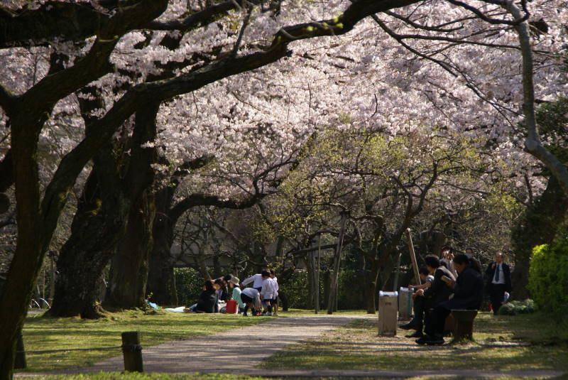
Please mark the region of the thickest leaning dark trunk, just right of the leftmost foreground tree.
[[[58, 259], [59, 276], [51, 315], [100, 316], [97, 296], [104, 268], [124, 237], [133, 202], [153, 182], [151, 164], [155, 162], [155, 150], [142, 145], [155, 139], [158, 107], [148, 104], [136, 112], [133, 135], [127, 146], [130, 159], [125, 157], [124, 163], [118, 161], [116, 156], [121, 152], [110, 144], [95, 156], [73, 219], [71, 236]], [[92, 132], [87, 130], [89, 133]]]

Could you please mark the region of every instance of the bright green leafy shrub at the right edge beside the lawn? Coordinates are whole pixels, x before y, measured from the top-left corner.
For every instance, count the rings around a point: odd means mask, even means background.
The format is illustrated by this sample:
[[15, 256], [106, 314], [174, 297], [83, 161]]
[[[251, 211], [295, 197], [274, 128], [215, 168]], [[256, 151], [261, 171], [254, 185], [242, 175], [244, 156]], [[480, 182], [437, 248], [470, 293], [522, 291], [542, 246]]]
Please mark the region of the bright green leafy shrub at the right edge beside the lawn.
[[552, 244], [535, 246], [530, 260], [528, 289], [542, 310], [560, 312], [568, 305], [568, 233]]

